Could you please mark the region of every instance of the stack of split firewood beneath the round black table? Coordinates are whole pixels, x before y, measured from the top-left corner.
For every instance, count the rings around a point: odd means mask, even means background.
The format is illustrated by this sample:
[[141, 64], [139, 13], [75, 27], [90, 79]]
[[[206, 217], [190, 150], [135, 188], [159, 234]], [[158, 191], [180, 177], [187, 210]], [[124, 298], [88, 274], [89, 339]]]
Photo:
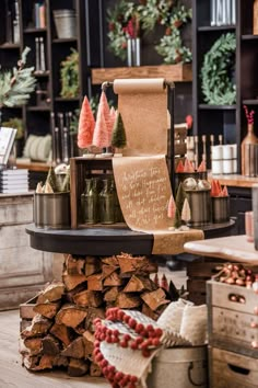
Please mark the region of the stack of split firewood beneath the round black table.
[[66, 255], [62, 282], [37, 297], [31, 326], [20, 335], [20, 353], [30, 370], [64, 367], [70, 376], [101, 376], [94, 362], [95, 318], [109, 307], [137, 309], [157, 319], [171, 301], [150, 277], [157, 266], [145, 256]]

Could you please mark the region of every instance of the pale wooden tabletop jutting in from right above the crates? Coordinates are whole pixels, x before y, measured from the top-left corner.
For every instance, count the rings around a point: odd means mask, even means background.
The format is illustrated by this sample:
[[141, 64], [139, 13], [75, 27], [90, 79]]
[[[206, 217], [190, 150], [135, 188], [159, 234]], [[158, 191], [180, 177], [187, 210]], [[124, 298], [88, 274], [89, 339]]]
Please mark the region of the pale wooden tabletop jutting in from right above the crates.
[[245, 235], [190, 241], [184, 244], [188, 253], [223, 259], [225, 261], [258, 264], [258, 251]]

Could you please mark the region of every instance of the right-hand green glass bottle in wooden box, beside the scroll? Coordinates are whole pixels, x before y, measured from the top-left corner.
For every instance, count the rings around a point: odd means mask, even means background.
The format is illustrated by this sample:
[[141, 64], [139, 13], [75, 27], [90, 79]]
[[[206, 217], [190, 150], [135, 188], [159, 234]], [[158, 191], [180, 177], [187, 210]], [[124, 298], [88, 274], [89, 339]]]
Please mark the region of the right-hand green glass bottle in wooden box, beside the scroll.
[[115, 194], [110, 179], [103, 180], [103, 190], [99, 193], [101, 224], [115, 222]]

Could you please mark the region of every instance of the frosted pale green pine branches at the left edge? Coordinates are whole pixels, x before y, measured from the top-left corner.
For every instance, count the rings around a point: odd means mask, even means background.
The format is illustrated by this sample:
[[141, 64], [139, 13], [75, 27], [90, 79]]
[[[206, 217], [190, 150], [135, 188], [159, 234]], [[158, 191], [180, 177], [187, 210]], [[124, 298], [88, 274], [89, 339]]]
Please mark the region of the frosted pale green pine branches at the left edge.
[[0, 109], [2, 106], [20, 106], [26, 104], [35, 90], [36, 79], [33, 77], [34, 67], [25, 68], [26, 56], [31, 48], [25, 47], [17, 68], [13, 71], [0, 72]]

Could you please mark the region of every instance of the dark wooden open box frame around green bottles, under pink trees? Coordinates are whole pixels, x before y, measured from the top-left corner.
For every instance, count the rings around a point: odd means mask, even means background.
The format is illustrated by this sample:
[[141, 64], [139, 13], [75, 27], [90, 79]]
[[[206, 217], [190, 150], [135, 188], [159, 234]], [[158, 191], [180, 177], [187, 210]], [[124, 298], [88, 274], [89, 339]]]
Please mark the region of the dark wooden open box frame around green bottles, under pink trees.
[[71, 158], [71, 227], [77, 229], [82, 225], [81, 219], [81, 194], [85, 189], [85, 179], [98, 176], [101, 179], [113, 174], [112, 158], [83, 157]]

